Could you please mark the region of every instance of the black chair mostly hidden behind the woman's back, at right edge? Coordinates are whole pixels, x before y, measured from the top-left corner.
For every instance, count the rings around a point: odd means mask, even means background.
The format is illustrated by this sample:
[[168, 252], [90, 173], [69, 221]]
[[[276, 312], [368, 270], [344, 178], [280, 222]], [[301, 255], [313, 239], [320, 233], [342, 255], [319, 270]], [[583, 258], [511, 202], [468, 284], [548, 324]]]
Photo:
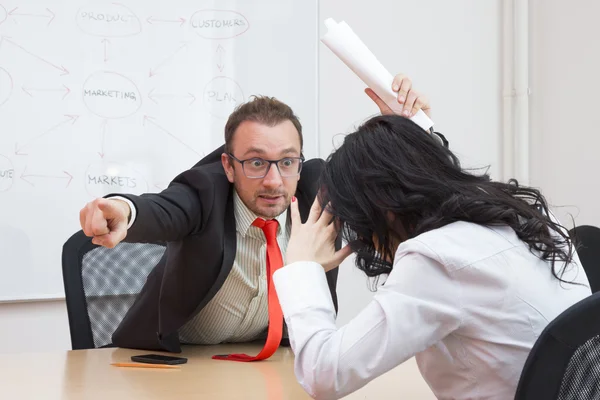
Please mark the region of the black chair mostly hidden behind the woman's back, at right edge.
[[577, 255], [590, 281], [592, 293], [600, 290], [600, 228], [581, 225], [569, 231], [577, 244]]

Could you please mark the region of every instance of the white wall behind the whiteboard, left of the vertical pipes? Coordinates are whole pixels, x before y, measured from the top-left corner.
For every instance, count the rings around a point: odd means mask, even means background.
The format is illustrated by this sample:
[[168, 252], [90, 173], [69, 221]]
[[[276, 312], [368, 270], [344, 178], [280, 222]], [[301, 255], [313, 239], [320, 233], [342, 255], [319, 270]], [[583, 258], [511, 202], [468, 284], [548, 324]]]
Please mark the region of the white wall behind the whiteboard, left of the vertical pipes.
[[[414, 80], [432, 100], [436, 129], [465, 164], [500, 170], [500, 0], [321, 0], [320, 15], [345, 20], [390, 72]], [[324, 46], [320, 57], [325, 157], [336, 134], [377, 109], [362, 93], [364, 85]], [[340, 323], [372, 297], [350, 261], [340, 271], [339, 297]], [[0, 352], [69, 348], [63, 301], [0, 304]]]

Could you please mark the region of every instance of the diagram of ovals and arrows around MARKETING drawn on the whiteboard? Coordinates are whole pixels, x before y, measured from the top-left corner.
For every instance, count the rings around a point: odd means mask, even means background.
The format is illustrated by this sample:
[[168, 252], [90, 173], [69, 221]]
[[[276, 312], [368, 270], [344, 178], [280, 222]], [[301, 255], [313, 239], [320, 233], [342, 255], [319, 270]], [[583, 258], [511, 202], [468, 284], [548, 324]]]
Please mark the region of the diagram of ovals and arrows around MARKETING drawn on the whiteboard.
[[[48, 28], [56, 17], [56, 14], [49, 8], [27, 10], [23, 7], [15, 7], [6, 11], [6, 8], [1, 6], [0, 11], [2, 12], [0, 14], [1, 22], [7, 19], [16, 21], [17, 17], [47, 19], [46, 24], [43, 25], [45, 28]], [[145, 131], [146, 129], [153, 129], [158, 133], [162, 133], [162, 138], [159, 138], [159, 140], [152, 139], [155, 141], [155, 145], [162, 146], [162, 142], [165, 141], [179, 144], [182, 153], [187, 153], [189, 164], [199, 160], [211, 149], [203, 148], [202, 141], [196, 141], [194, 144], [188, 143], [185, 133], [182, 134], [165, 127], [163, 122], [150, 115], [151, 112], [148, 109], [144, 109], [145, 102], [151, 102], [158, 106], [171, 103], [171, 106], [189, 107], [188, 112], [206, 113], [213, 118], [223, 120], [231, 114], [235, 107], [245, 101], [244, 90], [241, 85], [234, 76], [227, 75], [228, 61], [231, 60], [228, 60], [227, 44], [221, 42], [218, 42], [216, 47], [212, 46], [215, 47], [214, 51], [209, 51], [203, 55], [204, 59], [210, 60], [214, 64], [216, 71], [214, 76], [206, 81], [206, 84], [201, 88], [201, 92], [192, 88], [187, 88], [185, 89], [187, 91], [181, 92], [157, 88], [157, 86], [168, 86], [163, 84], [165, 81], [168, 82], [173, 79], [173, 77], [178, 80], [181, 64], [189, 62], [189, 53], [198, 50], [198, 46], [195, 46], [189, 39], [186, 40], [185, 35], [181, 35], [183, 33], [181, 31], [186, 26], [193, 32], [196, 41], [233, 40], [248, 32], [250, 28], [248, 19], [239, 12], [198, 10], [189, 18], [168, 18], [138, 15], [125, 4], [107, 2], [80, 7], [77, 9], [74, 19], [80, 37], [84, 38], [83, 40], [86, 43], [91, 43], [98, 48], [98, 58], [89, 62], [89, 66], [83, 65], [83, 68], [79, 63], [72, 65], [75, 64], [73, 62], [67, 67], [65, 65], [67, 64], [66, 60], [52, 59], [51, 55], [48, 55], [49, 52], [47, 52], [45, 46], [25, 45], [16, 35], [2, 35], [0, 39], [0, 51], [10, 52], [15, 57], [24, 58], [26, 62], [31, 62], [32, 68], [44, 69], [46, 73], [54, 73], [55, 75], [52, 84], [38, 85], [37, 83], [23, 81], [20, 88], [17, 88], [22, 92], [20, 98], [26, 101], [27, 98], [22, 96], [22, 94], [25, 94], [30, 98], [43, 99], [44, 102], [51, 102], [51, 107], [57, 109], [59, 114], [62, 113], [62, 116], [58, 117], [53, 125], [42, 128], [39, 132], [19, 135], [14, 145], [13, 154], [3, 149], [5, 153], [2, 155], [2, 159], [6, 161], [2, 163], [4, 165], [3, 170], [0, 172], [2, 180], [0, 187], [5, 187], [5, 190], [13, 187], [14, 180], [21, 180], [22, 182], [18, 182], [19, 185], [27, 183], [34, 188], [36, 187], [34, 182], [42, 179], [51, 180], [56, 184], [59, 181], [62, 181], [61, 184], [66, 181], [67, 184], [64, 185], [64, 188], [68, 188], [71, 181], [75, 179], [73, 185], [83, 185], [86, 193], [94, 197], [122, 191], [147, 192], [157, 187], [156, 183], [153, 182], [153, 177], [145, 177], [143, 173], [135, 172], [132, 167], [126, 166], [127, 163], [123, 162], [125, 160], [119, 160], [116, 154], [110, 154], [109, 147], [111, 146], [108, 143], [114, 143], [115, 137], [124, 137], [123, 143], [126, 143], [128, 130]], [[117, 61], [115, 60], [116, 57], [122, 57], [122, 52], [117, 55], [111, 51], [113, 46], [122, 47], [124, 45], [119, 41], [125, 41], [133, 36], [141, 36], [144, 34], [144, 30], [152, 30], [158, 26], [163, 29], [170, 29], [168, 34], [176, 39], [176, 43], [166, 52], [152, 52], [153, 60], [151, 61], [153, 63], [149, 64], [147, 74], [142, 74], [140, 71], [135, 73], [131, 73], [129, 70], [127, 72], [122, 71], [116, 65], [112, 65], [111, 61]], [[180, 35], [181, 39], [177, 40]], [[86, 38], [92, 37], [100, 40], [86, 40]], [[204, 47], [207, 47], [206, 43], [204, 45]], [[137, 63], [135, 59], [130, 59], [130, 61]], [[63, 77], [72, 75], [75, 68], [78, 69], [78, 77], [84, 79], [73, 84], [71, 83], [73, 79]], [[18, 76], [21, 72], [21, 68], [17, 68], [11, 73], [7, 68], [0, 67], [0, 106], [10, 100], [15, 89], [13, 75]], [[26, 77], [23, 76], [21, 79], [26, 79]], [[65, 102], [65, 100], [69, 101]], [[77, 107], [77, 102], [80, 102], [84, 107]], [[83, 113], [71, 114], [73, 105]], [[200, 105], [202, 108], [198, 107]], [[136, 116], [138, 117], [136, 121], [138, 126], [132, 127], [131, 120], [127, 119]], [[73, 134], [73, 132], [81, 132], [83, 129], [90, 128], [88, 123], [85, 123], [84, 128], [76, 127], [75, 125], [80, 119], [91, 122], [94, 118], [98, 118], [100, 121], [99, 124], [96, 124], [99, 125], [96, 153], [100, 160], [93, 160], [92, 156], [85, 173], [75, 177], [66, 171], [66, 166], [63, 171], [58, 171], [55, 174], [30, 173], [27, 171], [28, 160], [24, 163], [19, 160], [18, 164], [22, 164], [22, 168], [15, 170], [10, 160], [11, 155], [35, 158], [38, 153], [46, 154], [53, 145], [64, 145], [62, 139], [58, 136], [61, 134], [64, 136], [65, 131]], [[127, 123], [112, 123], [116, 120], [126, 120]], [[218, 125], [219, 123], [212, 122], [212, 124]], [[123, 154], [125, 158], [128, 158], [127, 152]], [[161, 181], [165, 181], [167, 178], [172, 177], [157, 176], [157, 179]], [[150, 184], [148, 184], [148, 180], [151, 181]]]

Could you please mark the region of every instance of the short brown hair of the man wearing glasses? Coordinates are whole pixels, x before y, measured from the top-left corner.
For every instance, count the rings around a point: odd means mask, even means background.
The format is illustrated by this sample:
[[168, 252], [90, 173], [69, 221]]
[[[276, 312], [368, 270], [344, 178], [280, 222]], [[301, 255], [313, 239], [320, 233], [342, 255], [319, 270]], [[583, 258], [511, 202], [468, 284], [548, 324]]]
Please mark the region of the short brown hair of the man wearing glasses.
[[300, 149], [304, 144], [302, 125], [287, 104], [275, 97], [252, 96], [251, 100], [236, 107], [225, 125], [225, 152], [231, 153], [231, 144], [235, 131], [244, 121], [254, 121], [267, 126], [275, 126], [284, 121], [291, 121], [300, 135]]

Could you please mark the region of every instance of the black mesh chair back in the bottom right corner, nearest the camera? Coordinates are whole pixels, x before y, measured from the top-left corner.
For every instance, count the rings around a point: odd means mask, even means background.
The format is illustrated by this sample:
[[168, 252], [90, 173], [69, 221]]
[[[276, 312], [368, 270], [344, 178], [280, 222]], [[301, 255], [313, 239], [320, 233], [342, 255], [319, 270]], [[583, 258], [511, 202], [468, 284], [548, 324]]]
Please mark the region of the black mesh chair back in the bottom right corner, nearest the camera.
[[574, 304], [531, 349], [515, 400], [600, 399], [600, 292]]

